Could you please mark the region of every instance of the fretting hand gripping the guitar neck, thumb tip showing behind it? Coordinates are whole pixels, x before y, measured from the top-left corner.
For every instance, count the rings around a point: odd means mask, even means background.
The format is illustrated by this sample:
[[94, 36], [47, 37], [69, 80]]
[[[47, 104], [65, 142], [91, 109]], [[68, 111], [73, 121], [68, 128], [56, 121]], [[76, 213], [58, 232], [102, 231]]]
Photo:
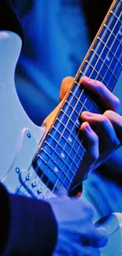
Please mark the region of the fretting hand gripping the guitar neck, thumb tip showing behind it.
[[[65, 96], [72, 81], [72, 77], [67, 77], [61, 83], [61, 99]], [[91, 170], [96, 169], [106, 161], [113, 151], [122, 144], [122, 117], [118, 114], [119, 99], [99, 81], [82, 77], [80, 82], [88, 91], [99, 98], [105, 106], [105, 112], [95, 114], [85, 111], [81, 114], [81, 119], [84, 122], [80, 129], [86, 140], [87, 154], [80, 165], [75, 183], [86, 179]]]

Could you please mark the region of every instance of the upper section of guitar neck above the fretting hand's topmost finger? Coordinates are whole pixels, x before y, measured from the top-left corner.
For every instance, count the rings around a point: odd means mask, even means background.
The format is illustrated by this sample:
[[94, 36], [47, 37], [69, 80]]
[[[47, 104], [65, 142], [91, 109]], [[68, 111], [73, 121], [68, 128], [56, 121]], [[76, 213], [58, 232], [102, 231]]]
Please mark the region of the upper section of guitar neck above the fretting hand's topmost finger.
[[121, 72], [122, 63], [122, 2], [113, 1], [96, 35], [76, 79], [89, 76], [100, 80], [113, 91]]

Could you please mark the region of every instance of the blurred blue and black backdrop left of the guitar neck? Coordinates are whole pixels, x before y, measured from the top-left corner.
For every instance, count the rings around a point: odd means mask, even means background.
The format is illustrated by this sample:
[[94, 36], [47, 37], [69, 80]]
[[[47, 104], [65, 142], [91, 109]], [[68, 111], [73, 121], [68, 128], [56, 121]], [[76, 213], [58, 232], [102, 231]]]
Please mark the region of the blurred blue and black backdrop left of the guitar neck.
[[[113, 1], [12, 2], [24, 31], [17, 92], [28, 116], [40, 125], [59, 102], [61, 80], [75, 76]], [[115, 93], [121, 98], [118, 85]]]

